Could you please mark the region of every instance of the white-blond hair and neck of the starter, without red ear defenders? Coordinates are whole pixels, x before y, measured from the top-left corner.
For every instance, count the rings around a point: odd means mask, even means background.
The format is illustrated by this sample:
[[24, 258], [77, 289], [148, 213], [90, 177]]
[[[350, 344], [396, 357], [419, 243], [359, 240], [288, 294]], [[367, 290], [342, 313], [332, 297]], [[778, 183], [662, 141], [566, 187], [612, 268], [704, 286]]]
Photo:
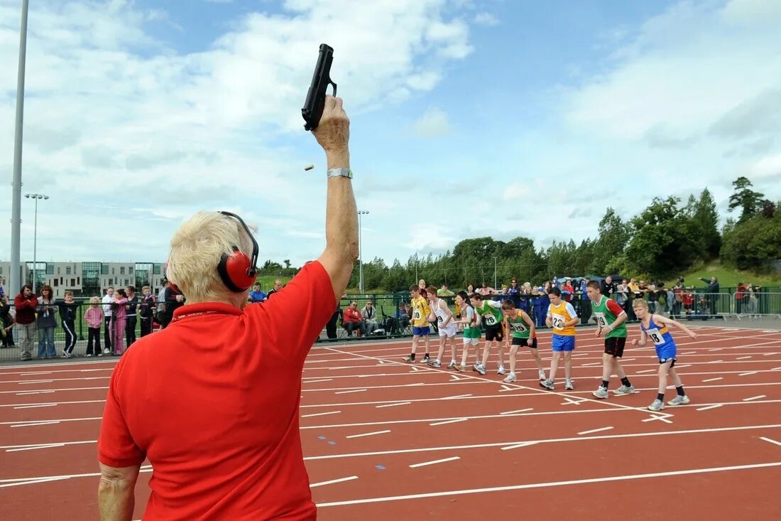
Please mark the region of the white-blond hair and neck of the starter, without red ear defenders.
[[[249, 227], [255, 232], [255, 227]], [[219, 212], [200, 211], [179, 227], [171, 239], [166, 278], [175, 284], [189, 303], [227, 302], [243, 307], [249, 289], [235, 293], [217, 272], [223, 253], [233, 246], [251, 257], [252, 242], [234, 217]]]

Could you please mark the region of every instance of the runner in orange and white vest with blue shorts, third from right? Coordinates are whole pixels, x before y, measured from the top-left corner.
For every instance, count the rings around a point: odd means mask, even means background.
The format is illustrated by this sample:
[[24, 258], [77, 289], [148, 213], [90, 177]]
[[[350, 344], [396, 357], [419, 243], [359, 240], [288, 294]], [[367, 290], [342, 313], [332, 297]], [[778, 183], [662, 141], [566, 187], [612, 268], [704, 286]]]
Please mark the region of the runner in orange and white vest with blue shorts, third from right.
[[580, 318], [575, 312], [572, 304], [562, 300], [562, 291], [558, 288], [547, 290], [548, 299], [551, 300], [551, 306], [547, 308], [547, 318], [545, 325], [553, 328], [553, 338], [551, 348], [553, 358], [551, 358], [551, 374], [547, 380], [540, 382], [540, 386], [553, 390], [558, 370], [558, 360], [564, 360], [565, 390], [573, 390], [572, 385], [572, 351], [575, 350], [575, 325], [580, 322]]

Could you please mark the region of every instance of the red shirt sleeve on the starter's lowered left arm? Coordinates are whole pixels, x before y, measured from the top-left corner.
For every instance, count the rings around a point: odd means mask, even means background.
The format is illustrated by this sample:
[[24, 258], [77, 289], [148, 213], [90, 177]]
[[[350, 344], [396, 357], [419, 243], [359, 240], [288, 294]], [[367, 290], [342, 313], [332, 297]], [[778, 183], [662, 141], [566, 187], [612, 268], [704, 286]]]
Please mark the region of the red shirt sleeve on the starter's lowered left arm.
[[98, 437], [98, 461], [118, 468], [139, 466], [146, 459], [144, 451], [133, 440], [119, 405], [120, 366], [121, 362], [111, 376]]

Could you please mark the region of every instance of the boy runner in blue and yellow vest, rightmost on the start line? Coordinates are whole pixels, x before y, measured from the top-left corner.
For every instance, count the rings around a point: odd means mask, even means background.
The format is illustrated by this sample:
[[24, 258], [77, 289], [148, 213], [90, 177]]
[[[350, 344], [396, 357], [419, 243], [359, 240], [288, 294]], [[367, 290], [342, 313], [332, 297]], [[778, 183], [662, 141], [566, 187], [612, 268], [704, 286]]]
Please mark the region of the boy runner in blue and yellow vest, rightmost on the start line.
[[689, 397], [683, 390], [683, 383], [673, 368], [676, 365], [676, 341], [672, 340], [672, 334], [666, 326], [672, 325], [682, 329], [686, 335], [697, 338], [697, 333], [687, 328], [685, 325], [672, 320], [672, 318], [663, 317], [661, 314], [651, 314], [648, 312], [648, 303], [642, 299], [635, 299], [633, 309], [637, 318], [640, 320], [640, 340], [632, 340], [633, 346], [643, 347], [646, 338], [650, 338], [656, 348], [656, 356], [659, 358], [659, 393], [656, 395], [654, 403], [648, 406], [650, 411], [661, 411], [665, 408], [665, 390], [667, 389], [667, 375], [670, 375], [673, 385], [676, 386], [678, 395], [668, 405], [685, 405], [690, 402]]

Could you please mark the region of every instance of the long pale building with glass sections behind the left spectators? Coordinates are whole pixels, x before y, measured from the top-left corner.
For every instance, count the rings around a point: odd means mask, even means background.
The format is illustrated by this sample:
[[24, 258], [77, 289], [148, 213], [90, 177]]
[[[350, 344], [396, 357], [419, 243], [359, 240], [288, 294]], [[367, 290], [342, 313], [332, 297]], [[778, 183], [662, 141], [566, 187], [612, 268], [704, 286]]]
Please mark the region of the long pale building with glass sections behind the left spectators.
[[[32, 284], [33, 263], [22, 264], [24, 283]], [[37, 262], [35, 268], [36, 293], [48, 284], [52, 286], [55, 298], [62, 298], [66, 290], [73, 291], [73, 296], [102, 296], [109, 286], [135, 286], [138, 293], [141, 293], [141, 287], [150, 286], [156, 295], [166, 273], [166, 264], [159, 262]], [[7, 281], [10, 269], [10, 262], [0, 261], [3, 282]]]

